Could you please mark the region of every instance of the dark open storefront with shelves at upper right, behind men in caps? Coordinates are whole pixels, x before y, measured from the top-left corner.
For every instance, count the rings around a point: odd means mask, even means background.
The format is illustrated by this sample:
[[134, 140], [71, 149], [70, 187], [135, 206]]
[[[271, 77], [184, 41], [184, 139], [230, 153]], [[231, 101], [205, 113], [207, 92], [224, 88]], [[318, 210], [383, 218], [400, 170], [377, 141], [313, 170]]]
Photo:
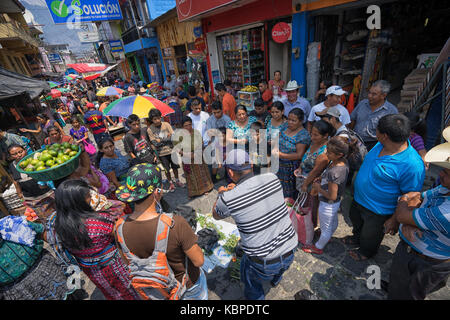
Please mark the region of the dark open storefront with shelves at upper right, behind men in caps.
[[[367, 7], [373, 4], [380, 8], [379, 30], [367, 28]], [[311, 80], [308, 98], [320, 81], [330, 80], [353, 92], [357, 103], [367, 98], [373, 82], [382, 79], [391, 84], [389, 101], [406, 111], [415, 91], [404, 86], [405, 78], [416, 69], [430, 67], [421, 65], [423, 58], [432, 60], [441, 51], [450, 24], [439, 12], [448, 9], [444, 3], [430, 8], [420, 0], [402, 0], [355, 1], [310, 11], [309, 26], [314, 32], [308, 51], [318, 44], [320, 67], [314, 76], [307, 76]]]

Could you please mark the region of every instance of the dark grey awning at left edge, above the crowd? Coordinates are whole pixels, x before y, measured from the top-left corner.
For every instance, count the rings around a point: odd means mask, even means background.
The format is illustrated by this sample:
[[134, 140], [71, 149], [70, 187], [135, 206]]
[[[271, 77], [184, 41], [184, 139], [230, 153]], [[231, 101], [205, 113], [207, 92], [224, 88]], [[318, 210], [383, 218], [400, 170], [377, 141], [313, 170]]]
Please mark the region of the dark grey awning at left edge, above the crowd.
[[31, 99], [43, 91], [50, 91], [46, 81], [33, 79], [0, 67], [0, 99], [7, 99], [28, 93]]

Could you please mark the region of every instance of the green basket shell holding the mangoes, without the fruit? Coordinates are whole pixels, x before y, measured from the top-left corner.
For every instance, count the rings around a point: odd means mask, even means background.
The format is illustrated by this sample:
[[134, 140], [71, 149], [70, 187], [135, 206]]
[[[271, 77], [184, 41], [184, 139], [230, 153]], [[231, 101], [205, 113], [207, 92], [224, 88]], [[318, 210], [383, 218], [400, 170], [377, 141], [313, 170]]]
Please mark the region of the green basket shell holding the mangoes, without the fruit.
[[30, 176], [31, 178], [33, 178], [36, 181], [55, 181], [55, 180], [59, 180], [61, 178], [68, 176], [69, 174], [71, 174], [78, 168], [78, 165], [80, 163], [81, 148], [78, 148], [77, 154], [72, 159], [70, 159], [69, 161], [64, 162], [54, 168], [49, 168], [49, 169], [40, 170], [40, 171], [24, 171], [24, 170], [22, 170], [22, 168], [20, 168], [20, 163], [22, 161], [25, 161], [26, 159], [34, 157], [34, 155], [37, 152], [42, 152], [42, 151], [44, 151], [44, 149], [45, 148], [35, 151], [32, 154], [27, 155], [22, 160], [20, 160], [16, 167], [17, 171]]

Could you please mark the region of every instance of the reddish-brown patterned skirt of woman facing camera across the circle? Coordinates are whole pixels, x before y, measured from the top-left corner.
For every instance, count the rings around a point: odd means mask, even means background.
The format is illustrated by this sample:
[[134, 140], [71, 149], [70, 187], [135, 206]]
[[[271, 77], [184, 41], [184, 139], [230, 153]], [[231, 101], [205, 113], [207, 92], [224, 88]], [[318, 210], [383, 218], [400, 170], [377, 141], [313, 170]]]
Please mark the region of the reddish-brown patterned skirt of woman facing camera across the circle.
[[214, 184], [209, 174], [206, 164], [184, 164], [184, 175], [186, 176], [188, 196], [201, 196], [205, 192], [211, 191]]

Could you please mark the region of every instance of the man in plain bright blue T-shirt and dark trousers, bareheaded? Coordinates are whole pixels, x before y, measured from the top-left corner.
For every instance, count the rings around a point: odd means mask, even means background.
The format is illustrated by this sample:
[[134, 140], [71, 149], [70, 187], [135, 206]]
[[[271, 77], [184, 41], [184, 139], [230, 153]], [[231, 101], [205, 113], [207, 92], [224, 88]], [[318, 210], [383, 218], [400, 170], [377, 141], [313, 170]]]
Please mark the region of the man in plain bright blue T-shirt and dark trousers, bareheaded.
[[398, 197], [422, 189], [425, 166], [408, 141], [410, 128], [404, 115], [382, 117], [376, 130], [379, 143], [366, 155], [356, 176], [349, 213], [353, 235], [343, 241], [359, 246], [358, 250], [350, 251], [357, 261], [378, 252], [384, 223], [395, 212]]

